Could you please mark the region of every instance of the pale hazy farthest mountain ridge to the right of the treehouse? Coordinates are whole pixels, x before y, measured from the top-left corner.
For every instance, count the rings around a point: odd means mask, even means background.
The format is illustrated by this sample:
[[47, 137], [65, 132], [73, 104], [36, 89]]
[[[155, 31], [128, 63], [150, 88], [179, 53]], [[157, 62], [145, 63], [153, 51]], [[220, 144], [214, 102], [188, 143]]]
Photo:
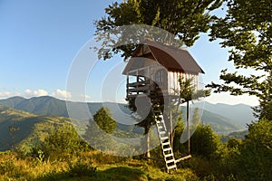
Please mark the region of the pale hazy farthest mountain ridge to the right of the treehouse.
[[253, 110], [246, 104], [228, 105], [222, 103], [212, 104], [209, 102], [204, 102], [196, 103], [194, 107], [208, 110], [209, 112], [219, 114], [227, 119], [231, 119], [244, 129], [246, 129], [248, 123], [251, 123], [252, 120], [256, 120], [256, 118], [253, 116]]

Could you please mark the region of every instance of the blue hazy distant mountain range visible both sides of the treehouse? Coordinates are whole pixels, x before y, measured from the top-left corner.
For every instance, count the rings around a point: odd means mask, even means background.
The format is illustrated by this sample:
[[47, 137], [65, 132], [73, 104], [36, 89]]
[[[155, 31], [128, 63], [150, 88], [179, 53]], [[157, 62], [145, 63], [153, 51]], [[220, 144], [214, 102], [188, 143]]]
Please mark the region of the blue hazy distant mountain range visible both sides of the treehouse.
[[[8, 108], [24, 110], [39, 116], [69, 117], [65, 100], [58, 100], [49, 96], [34, 97], [31, 99], [12, 97], [0, 100], [0, 104]], [[102, 106], [106, 106], [112, 110], [113, 119], [116, 119], [119, 122], [118, 129], [135, 129], [135, 121], [131, 119], [131, 111], [127, 109], [126, 104], [89, 102], [87, 103], [87, 106], [90, 112], [82, 111], [81, 109], [86, 103], [69, 101], [69, 104], [73, 107], [73, 112], [75, 112], [75, 114], [73, 114], [73, 119], [91, 119], [92, 115], [94, 115], [97, 110]], [[206, 102], [204, 107], [197, 103], [193, 107], [204, 109], [201, 118], [202, 122], [204, 122], [204, 124], [210, 124], [219, 134], [228, 134], [233, 131], [246, 129], [246, 123], [249, 123], [253, 119], [253, 116], [251, 116], [252, 111], [247, 105], [239, 104], [231, 106], [227, 104], [210, 104]], [[185, 108], [182, 110], [185, 112]]]

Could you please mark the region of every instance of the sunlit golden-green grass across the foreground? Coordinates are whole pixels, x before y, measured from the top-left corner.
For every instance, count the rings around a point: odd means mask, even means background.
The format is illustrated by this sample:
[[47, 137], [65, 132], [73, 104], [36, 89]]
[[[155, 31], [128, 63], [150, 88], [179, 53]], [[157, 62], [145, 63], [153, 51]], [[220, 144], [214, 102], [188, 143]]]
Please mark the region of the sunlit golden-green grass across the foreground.
[[170, 174], [161, 164], [131, 157], [113, 157], [98, 151], [65, 155], [52, 160], [16, 157], [10, 151], [0, 152], [2, 180], [199, 180], [190, 169]]

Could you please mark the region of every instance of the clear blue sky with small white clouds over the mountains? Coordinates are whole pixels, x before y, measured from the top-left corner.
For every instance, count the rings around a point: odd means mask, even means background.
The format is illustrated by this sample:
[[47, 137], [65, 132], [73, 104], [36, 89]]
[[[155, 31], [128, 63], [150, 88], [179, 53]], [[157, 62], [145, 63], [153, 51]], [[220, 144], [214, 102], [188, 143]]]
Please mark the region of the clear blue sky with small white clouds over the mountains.
[[[106, 62], [94, 61], [88, 49], [93, 43], [94, 21], [111, 4], [112, 0], [0, 0], [0, 99], [49, 95], [74, 101], [123, 102], [121, 71], [126, 63], [118, 55]], [[201, 34], [189, 52], [205, 71], [201, 75], [204, 84], [220, 82], [220, 71], [225, 68], [234, 71], [228, 50], [219, 41], [210, 43], [207, 34]], [[84, 89], [67, 90], [74, 62], [82, 56], [95, 62], [87, 77], [78, 78]], [[206, 100], [257, 105], [254, 97], [228, 93], [212, 94]]]

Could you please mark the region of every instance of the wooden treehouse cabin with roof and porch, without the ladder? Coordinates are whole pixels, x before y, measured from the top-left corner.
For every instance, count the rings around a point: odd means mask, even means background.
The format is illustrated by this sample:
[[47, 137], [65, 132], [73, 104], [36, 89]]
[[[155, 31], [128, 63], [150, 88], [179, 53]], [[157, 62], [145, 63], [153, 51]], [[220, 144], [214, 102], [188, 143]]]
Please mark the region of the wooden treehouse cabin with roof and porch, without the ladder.
[[199, 64], [185, 49], [146, 40], [140, 44], [122, 72], [127, 76], [127, 99], [146, 94], [151, 99], [174, 96], [179, 79], [192, 79], [198, 85]]

